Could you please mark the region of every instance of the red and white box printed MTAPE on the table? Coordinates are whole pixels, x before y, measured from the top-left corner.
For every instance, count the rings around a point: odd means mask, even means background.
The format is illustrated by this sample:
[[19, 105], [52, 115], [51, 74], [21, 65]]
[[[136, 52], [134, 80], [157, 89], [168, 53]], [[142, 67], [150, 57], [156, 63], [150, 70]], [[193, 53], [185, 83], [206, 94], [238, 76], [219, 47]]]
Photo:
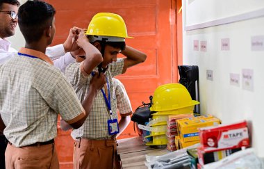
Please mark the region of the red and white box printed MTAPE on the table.
[[249, 132], [245, 120], [235, 124], [200, 128], [199, 137], [204, 152], [249, 147]]

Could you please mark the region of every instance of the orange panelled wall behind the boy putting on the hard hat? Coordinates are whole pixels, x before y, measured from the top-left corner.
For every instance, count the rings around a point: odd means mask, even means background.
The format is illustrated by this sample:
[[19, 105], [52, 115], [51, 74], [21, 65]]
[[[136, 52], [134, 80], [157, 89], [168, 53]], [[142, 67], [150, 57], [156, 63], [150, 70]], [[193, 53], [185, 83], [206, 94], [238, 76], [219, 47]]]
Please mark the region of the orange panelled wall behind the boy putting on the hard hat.
[[[87, 28], [95, 13], [117, 13], [124, 18], [129, 35], [126, 44], [147, 54], [145, 63], [118, 76], [131, 99], [133, 111], [165, 83], [179, 79], [182, 63], [180, 0], [48, 0], [56, 8], [56, 36], [53, 45], [63, 42], [72, 26]], [[122, 57], [122, 56], [120, 56]], [[73, 140], [69, 131], [58, 129], [56, 147], [61, 168], [72, 168]], [[133, 122], [119, 138], [136, 136]]]

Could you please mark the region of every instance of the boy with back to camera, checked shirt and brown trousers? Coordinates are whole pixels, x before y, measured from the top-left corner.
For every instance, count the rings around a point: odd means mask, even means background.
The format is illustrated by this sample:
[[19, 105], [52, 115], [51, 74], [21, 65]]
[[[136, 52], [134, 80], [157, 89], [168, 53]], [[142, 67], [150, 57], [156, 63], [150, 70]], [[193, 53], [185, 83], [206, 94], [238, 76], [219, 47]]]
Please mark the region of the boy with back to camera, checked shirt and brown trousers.
[[[56, 30], [53, 6], [26, 1], [18, 15], [26, 45], [0, 65], [0, 131], [9, 142], [6, 168], [57, 169], [58, 114], [74, 129], [81, 127], [106, 79], [104, 74], [94, 75], [82, 106], [63, 73], [44, 54]], [[79, 47], [89, 49], [86, 57], [99, 65], [103, 60], [99, 51], [82, 39], [77, 41]]]

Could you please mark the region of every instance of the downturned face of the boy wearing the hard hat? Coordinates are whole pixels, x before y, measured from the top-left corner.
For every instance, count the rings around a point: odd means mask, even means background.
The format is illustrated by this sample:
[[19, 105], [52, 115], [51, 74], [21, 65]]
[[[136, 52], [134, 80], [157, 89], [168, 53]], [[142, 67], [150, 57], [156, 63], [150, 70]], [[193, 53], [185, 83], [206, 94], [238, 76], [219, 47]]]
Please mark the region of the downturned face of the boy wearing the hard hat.
[[121, 49], [106, 45], [104, 49], [104, 61], [102, 63], [102, 67], [106, 68], [110, 63], [116, 62], [117, 54], [119, 54], [120, 52]]

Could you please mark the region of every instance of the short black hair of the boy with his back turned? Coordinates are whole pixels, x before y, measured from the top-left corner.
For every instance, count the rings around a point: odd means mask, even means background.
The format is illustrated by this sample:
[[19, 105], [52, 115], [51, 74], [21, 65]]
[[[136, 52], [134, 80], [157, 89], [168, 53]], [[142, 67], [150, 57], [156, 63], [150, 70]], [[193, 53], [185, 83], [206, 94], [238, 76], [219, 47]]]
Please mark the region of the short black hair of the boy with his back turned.
[[44, 1], [26, 1], [18, 10], [18, 25], [27, 43], [40, 40], [45, 29], [52, 26], [56, 10]]

